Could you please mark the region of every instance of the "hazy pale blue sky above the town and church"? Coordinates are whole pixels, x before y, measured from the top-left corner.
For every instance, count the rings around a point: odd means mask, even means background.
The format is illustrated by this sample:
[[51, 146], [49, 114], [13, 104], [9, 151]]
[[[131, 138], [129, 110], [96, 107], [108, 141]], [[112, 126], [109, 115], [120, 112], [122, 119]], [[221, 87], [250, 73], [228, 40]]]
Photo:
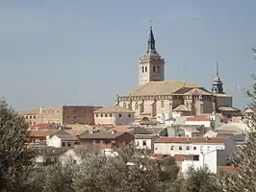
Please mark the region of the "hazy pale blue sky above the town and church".
[[152, 20], [166, 80], [211, 90], [218, 61], [225, 92], [244, 108], [255, 8], [255, 0], [0, 1], [0, 96], [16, 110], [114, 105], [139, 84]]

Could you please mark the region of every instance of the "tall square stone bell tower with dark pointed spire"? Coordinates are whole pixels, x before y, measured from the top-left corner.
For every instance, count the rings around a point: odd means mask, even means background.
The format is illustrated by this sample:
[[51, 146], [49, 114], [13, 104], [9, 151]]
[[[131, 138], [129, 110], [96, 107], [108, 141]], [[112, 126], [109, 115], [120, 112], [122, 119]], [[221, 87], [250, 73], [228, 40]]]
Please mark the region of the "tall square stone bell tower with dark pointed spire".
[[157, 53], [153, 29], [150, 26], [147, 52], [139, 62], [139, 84], [157, 81], [165, 81], [165, 60]]

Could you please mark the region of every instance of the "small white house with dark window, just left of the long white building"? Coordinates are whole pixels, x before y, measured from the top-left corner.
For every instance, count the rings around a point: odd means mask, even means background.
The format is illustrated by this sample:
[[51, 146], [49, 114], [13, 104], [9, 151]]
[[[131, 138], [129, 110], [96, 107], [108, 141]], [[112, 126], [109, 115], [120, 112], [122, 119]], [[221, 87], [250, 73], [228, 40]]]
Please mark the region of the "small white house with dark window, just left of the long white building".
[[135, 135], [135, 145], [137, 149], [154, 149], [154, 142], [158, 139], [157, 134], [136, 134]]

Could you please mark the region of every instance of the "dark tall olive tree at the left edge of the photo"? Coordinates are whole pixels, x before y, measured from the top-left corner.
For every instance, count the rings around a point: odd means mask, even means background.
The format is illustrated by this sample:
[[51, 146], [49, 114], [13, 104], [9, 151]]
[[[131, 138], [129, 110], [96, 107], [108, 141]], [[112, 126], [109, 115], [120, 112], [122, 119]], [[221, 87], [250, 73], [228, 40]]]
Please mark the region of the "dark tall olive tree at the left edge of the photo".
[[[26, 146], [29, 125], [0, 100], [0, 191], [24, 191], [33, 169], [35, 151]], [[25, 188], [24, 188], [25, 187]]]

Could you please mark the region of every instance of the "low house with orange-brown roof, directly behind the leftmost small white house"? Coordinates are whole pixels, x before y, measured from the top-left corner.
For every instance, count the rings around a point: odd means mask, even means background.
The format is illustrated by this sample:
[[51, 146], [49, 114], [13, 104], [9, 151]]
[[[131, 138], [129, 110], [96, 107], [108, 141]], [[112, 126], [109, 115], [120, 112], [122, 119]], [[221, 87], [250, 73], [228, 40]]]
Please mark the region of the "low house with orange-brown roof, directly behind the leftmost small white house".
[[27, 131], [27, 143], [38, 144], [40, 141], [46, 141], [46, 136], [53, 135], [69, 135], [69, 133], [63, 130], [36, 130]]

